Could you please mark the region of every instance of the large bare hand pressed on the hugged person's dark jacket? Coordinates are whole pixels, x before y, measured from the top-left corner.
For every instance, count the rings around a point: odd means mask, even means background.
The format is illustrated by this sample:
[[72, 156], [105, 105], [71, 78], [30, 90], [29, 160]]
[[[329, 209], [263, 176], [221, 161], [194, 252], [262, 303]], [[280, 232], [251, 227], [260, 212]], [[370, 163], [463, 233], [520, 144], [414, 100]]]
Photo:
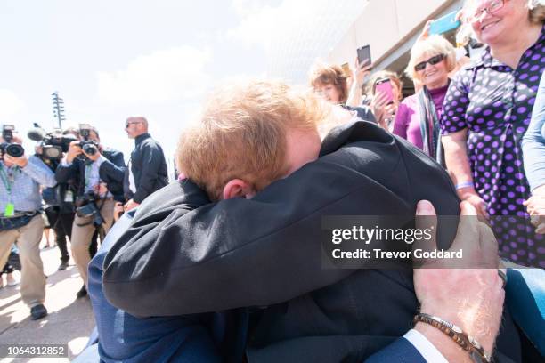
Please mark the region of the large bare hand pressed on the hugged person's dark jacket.
[[[421, 304], [420, 311], [440, 317], [472, 335], [492, 352], [500, 329], [505, 292], [498, 267], [498, 243], [483, 222], [477, 220], [476, 209], [468, 202], [460, 204], [460, 224], [450, 251], [462, 249], [464, 263], [485, 266], [481, 269], [449, 269], [451, 260], [425, 262], [414, 270], [414, 287]], [[437, 219], [435, 209], [428, 201], [417, 206], [417, 229], [433, 226], [431, 244], [435, 246]], [[468, 352], [461, 351], [456, 343], [439, 329], [424, 323], [415, 328], [426, 335], [449, 361], [470, 361]]]

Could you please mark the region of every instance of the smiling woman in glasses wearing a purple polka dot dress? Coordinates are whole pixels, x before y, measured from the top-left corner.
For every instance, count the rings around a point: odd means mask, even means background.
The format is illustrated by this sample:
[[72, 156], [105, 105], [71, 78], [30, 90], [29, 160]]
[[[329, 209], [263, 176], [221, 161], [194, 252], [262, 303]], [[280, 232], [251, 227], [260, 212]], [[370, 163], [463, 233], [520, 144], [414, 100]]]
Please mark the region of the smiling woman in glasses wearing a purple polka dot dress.
[[500, 254], [545, 267], [545, 238], [523, 206], [530, 189], [521, 149], [545, 68], [545, 6], [537, 3], [466, 1], [463, 17], [487, 47], [452, 80], [440, 123], [459, 196], [490, 218]]

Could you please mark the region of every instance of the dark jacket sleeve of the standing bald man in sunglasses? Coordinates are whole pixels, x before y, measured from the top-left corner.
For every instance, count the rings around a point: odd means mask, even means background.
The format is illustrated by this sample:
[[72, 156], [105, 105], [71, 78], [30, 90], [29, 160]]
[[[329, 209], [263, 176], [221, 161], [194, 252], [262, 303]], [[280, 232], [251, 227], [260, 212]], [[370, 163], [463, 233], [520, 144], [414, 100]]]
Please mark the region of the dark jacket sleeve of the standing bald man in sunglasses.
[[159, 178], [160, 165], [165, 163], [163, 150], [155, 141], [146, 140], [146, 145], [142, 147], [142, 173], [138, 182], [138, 188], [134, 193], [133, 200], [136, 203], [148, 197], [153, 191], [157, 179]]

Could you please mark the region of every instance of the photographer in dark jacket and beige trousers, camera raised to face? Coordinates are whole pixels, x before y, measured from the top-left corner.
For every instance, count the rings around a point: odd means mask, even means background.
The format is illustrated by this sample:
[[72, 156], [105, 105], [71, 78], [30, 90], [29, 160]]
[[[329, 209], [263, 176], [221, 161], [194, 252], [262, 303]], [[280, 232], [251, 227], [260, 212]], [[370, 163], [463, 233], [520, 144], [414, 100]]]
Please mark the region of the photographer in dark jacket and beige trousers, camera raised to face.
[[91, 260], [89, 246], [97, 229], [106, 234], [113, 223], [115, 202], [124, 202], [123, 177], [125, 160], [114, 149], [102, 148], [98, 131], [80, 125], [80, 141], [72, 141], [69, 150], [57, 167], [58, 182], [76, 185], [76, 217], [72, 225], [72, 257], [84, 286], [77, 297], [87, 294], [87, 265]]

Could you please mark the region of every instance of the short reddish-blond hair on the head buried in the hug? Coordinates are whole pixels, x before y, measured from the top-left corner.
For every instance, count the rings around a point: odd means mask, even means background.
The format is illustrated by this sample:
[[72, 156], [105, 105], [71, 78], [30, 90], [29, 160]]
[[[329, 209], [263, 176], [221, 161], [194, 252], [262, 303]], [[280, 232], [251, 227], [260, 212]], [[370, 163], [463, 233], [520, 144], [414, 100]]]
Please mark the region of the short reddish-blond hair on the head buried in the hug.
[[178, 170], [221, 198], [224, 185], [242, 179], [255, 190], [288, 172], [288, 129], [317, 130], [326, 117], [323, 101], [288, 85], [252, 81], [217, 90], [199, 122], [178, 143]]

